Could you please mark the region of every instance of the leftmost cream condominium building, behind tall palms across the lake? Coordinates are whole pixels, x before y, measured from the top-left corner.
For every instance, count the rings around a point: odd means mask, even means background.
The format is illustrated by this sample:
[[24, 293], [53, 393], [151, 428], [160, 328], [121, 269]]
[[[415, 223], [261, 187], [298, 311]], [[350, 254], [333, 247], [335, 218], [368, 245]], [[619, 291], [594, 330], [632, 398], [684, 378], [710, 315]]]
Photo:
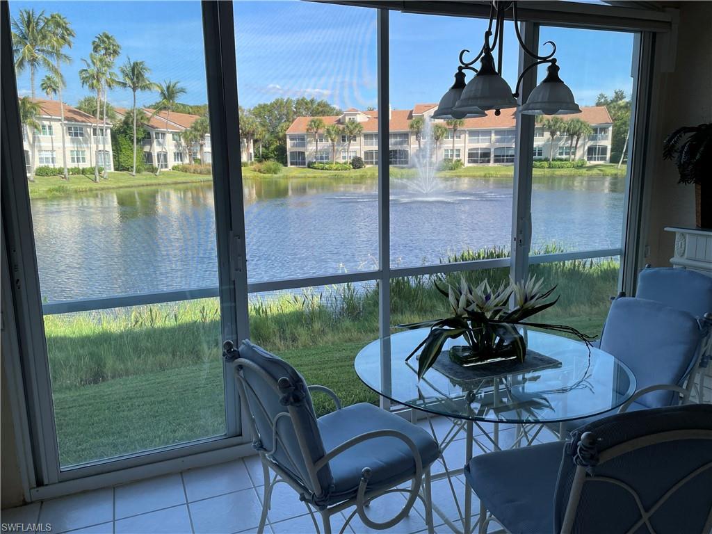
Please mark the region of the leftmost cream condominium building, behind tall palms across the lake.
[[62, 121], [58, 100], [33, 98], [40, 106], [36, 117], [38, 128], [22, 127], [25, 166], [28, 175], [37, 167], [114, 167], [111, 150], [111, 124], [96, 126], [96, 119], [87, 113], [64, 105], [64, 147]]

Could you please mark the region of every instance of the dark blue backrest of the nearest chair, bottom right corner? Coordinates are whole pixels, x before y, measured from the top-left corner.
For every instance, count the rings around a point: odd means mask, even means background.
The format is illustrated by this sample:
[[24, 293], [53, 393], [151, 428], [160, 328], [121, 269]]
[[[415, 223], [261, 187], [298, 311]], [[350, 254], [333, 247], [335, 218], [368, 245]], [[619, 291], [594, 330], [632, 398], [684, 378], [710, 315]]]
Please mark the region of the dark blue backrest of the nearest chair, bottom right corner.
[[562, 455], [554, 525], [556, 533], [708, 533], [712, 406], [626, 412], [577, 429]]

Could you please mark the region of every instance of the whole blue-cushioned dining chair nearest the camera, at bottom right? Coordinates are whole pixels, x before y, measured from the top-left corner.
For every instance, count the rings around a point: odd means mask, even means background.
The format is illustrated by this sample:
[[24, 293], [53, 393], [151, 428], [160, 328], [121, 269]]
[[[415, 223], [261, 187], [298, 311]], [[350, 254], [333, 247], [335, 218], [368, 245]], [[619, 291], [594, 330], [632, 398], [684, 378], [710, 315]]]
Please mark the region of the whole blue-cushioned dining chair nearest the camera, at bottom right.
[[481, 534], [492, 520], [511, 534], [708, 534], [712, 406], [614, 414], [566, 443], [475, 456], [465, 476]]

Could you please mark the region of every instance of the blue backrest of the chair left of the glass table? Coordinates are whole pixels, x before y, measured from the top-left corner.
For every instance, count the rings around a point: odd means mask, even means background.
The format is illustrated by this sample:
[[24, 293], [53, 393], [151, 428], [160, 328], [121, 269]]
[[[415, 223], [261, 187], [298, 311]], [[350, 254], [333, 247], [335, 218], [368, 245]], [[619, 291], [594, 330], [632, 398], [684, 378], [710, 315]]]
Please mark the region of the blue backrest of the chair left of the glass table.
[[311, 395], [303, 377], [280, 357], [244, 341], [239, 348], [238, 384], [253, 423], [255, 449], [303, 486], [317, 503], [333, 487]]

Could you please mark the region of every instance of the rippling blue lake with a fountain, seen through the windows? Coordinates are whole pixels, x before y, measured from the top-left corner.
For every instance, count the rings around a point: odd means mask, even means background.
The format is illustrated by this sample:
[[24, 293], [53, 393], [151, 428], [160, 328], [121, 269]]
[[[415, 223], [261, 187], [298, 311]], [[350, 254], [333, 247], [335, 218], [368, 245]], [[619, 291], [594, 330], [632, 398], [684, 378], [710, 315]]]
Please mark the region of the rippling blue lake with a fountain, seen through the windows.
[[[533, 249], [621, 244], [624, 177], [535, 177]], [[373, 179], [247, 180], [248, 280], [372, 271], [378, 264]], [[446, 178], [436, 192], [391, 180], [391, 264], [509, 248], [512, 179]], [[115, 189], [33, 199], [43, 301], [217, 286], [211, 185]]]

